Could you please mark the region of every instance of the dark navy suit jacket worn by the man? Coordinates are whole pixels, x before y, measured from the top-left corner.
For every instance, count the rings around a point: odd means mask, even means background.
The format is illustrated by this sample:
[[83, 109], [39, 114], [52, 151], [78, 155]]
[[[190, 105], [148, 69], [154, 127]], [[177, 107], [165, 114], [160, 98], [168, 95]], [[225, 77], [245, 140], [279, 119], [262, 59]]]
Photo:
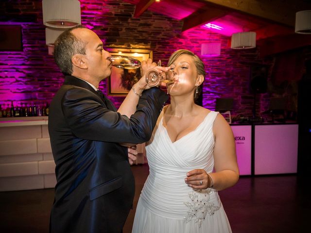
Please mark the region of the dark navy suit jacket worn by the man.
[[116, 112], [83, 80], [66, 76], [50, 105], [49, 133], [56, 164], [52, 233], [120, 233], [135, 183], [126, 147], [151, 137], [168, 99], [143, 92], [131, 118]]

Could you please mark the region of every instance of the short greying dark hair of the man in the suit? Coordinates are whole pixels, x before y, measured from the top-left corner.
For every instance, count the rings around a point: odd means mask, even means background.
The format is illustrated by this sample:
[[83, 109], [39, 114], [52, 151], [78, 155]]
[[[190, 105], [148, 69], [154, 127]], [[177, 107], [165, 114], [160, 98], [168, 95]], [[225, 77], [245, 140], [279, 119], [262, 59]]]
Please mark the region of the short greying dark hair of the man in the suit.
[[78, 39], [72, 30], [76, 28], [86, 28], [78, 25], [73, 28], [69, 28], [65, 32], [61, 33], [54, 44], [54, 61], [60, 68], [64, 75], [72, 74], [72, 62], [71, 58], [74, 54], [86, 54], [86, 42]]

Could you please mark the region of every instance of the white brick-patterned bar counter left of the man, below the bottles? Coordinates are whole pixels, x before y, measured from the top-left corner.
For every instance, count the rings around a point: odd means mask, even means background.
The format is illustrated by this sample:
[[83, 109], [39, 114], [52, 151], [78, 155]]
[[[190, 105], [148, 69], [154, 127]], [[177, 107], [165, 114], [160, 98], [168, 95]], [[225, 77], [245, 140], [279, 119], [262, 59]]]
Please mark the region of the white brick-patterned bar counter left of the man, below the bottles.
[[53, 188], [48, 116], [0, 118], [0, 191]]

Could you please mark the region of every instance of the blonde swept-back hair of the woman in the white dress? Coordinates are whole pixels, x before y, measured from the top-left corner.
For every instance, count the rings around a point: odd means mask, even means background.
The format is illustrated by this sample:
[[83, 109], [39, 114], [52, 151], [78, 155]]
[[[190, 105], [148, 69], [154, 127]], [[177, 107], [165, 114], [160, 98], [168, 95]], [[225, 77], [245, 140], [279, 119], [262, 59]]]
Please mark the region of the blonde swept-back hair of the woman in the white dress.
[[168, 66], [171, 66], [172, 63], [176, 61], [176, 59], [183, 54], [188, 54], [193, 57], [194, 65], [196, 67], [198, 75], [203, 75], [204, 77], [203, 82], [201, 83], [200, 86], [198, 86], [198, 93], [197, 94], [194, 93], [195, 94], [194, 99], [197, 99], [202, 92], [203, 83], [204, 83], [205, 76], [206, 76], [205, 67], [204, 67], [204, 63], [202, 62], [202, 60], [190, 50], [177, 50], [177, 51], [174, 51], [171, 57], [169, 58]]

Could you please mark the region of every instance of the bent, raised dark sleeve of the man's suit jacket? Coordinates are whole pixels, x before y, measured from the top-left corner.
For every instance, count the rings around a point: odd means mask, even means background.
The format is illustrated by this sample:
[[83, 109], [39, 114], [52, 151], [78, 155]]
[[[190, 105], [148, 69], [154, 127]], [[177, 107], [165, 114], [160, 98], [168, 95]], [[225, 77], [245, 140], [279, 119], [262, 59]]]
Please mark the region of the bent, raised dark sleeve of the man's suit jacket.
[[115, 143], [143, 143], [152, 135], [168, 96], [159, 88], [143, 92], [135, 114], [128, 118], [101, 104], [96, 94], [83, 88], [69, 89], [62, 112], [76, 137]]

